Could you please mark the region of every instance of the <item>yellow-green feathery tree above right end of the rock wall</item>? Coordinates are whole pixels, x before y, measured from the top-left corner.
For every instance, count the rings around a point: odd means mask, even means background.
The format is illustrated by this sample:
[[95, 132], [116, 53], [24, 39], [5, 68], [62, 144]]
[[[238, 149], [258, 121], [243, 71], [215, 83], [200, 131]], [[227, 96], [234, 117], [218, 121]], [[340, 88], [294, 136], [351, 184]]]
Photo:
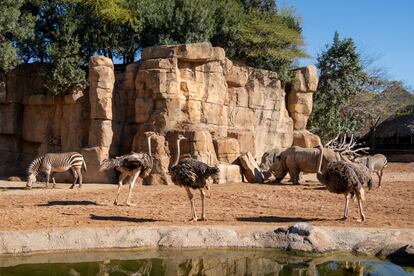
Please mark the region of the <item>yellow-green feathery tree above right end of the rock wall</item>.
[[235, 42], [234, 58], [249, 66], [276, 71], [284, 81], [291, 80], [291, 66], [298, 57], [306, 57], [299, 21], [276, 11], [250, 10], [242, 22]]

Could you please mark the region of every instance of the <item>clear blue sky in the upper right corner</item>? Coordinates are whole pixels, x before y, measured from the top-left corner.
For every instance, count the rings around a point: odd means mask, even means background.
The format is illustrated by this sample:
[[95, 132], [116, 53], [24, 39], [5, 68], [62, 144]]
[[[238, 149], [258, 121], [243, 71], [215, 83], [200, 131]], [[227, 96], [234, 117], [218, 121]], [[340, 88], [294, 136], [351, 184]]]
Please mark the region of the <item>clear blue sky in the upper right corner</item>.
[[389, 78], [414, 88], [414, 0], [277, 0], [302, 17], [306, 50], [316, 56], [331, 43], [335, 31], [354, 39], [358, 51], [376, 57]]

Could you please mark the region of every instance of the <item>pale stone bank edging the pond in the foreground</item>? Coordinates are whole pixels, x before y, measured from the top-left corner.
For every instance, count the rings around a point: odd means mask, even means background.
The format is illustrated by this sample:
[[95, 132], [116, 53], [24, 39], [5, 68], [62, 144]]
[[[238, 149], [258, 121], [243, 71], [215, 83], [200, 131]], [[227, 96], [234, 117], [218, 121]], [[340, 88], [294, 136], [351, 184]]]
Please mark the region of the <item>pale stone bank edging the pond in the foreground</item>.
[[[111, 248], [280, 248], [293, 252], [348, 251], [413, 260], [414, 230], [315, 227], [122, 227], [1, 231], [0, 253]], [[411, 258], [411, 259], [410, 259]]]

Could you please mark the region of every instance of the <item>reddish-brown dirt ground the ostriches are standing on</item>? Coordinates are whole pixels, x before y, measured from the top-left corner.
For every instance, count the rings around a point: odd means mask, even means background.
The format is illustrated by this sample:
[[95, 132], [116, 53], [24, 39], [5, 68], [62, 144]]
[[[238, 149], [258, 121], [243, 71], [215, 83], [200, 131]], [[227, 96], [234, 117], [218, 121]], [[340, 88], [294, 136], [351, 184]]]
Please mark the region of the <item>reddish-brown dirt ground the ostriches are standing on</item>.
[[[159, 225], [291, 225], [309, 222], [314, 225], [343, 227], [414, 227], [414, 163], [390, 163], [384, 171], [383, 185], [366, 194], [367, 221], [358, 222], [356, 202], [350, 204], [350, 218], [342, 216], [344, 196], [329, 193], [305, 175], [306, 182], [292, 185], [232, 183], [212, 185], [206, 199], [207, 221], [188, 222], [190, 202], [183, 188], [177, 186], [136, 185], [136, 206], [112, 204], [116, 185], [84, 184], [70, 190], [69, 184], [45, 189], [43, 183], [25, 190], [23, 182], [0, 181], [0, 230], [28, 230], [63, 227], [119, 227]], [[128, 187], [121, 191], [125, 202]], [[201, 202], [197, 191], [196, 207]]]

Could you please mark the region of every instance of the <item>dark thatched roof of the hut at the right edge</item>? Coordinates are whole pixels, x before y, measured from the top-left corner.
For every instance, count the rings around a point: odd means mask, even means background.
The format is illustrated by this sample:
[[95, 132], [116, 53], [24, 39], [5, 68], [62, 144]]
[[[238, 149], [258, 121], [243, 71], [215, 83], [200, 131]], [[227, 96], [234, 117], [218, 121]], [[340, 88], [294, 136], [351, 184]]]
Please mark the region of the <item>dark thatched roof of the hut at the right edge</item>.
[[392, 136], [407, 137], [414, 135], [414, 115], [391, 117], [379, 124], [375, 131], [377, 138]]

